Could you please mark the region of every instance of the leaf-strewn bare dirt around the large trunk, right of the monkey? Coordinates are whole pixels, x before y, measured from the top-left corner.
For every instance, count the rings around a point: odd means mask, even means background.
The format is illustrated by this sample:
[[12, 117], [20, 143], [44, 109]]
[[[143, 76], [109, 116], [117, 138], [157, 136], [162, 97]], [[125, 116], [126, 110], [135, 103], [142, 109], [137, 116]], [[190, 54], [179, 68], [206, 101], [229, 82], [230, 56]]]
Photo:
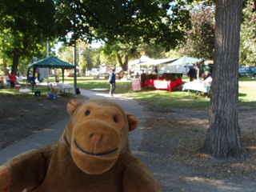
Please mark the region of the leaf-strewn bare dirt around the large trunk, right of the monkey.
[[163, 191], [256, 191], [256, 111], [239, 113], [246, 159], [216, 159], [202, 154], [208, 110], [146, 111], [138, 158], [149, 166]]

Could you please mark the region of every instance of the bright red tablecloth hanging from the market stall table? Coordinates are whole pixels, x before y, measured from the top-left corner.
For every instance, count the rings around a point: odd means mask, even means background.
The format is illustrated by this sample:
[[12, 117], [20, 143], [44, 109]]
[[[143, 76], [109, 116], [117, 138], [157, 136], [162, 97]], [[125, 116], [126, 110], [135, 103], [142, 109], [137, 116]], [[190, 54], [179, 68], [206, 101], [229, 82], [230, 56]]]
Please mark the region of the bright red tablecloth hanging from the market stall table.
[[169, 90], [171, 91], [171, 88], [174, 86], [178, 86], [179, 84], [182, 84], [182, 78], [176, 78], [175, 81], [162, 81], [158, 79], [146, 79], [145, 86], [154, 86], [157, 90]]

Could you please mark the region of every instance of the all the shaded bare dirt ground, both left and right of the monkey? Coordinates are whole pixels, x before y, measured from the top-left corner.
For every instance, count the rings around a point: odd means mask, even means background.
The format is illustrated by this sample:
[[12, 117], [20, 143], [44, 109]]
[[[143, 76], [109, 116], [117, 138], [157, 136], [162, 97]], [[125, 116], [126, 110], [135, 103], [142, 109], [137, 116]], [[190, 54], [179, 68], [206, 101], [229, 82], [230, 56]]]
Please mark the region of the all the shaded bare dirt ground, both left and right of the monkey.
[[[0, 95], [0, 149], [67, 118], [69, 100], [65, 96], [51, 100]], [[255, 191], [256, 111], [239, 114], [242, 140], [250, 156], [222, 160], [198, 151], [208, 128], [207, 110], [162, 113], [144, 109], [143, 141], [134, 154], [155, 174], [163, 191]]]

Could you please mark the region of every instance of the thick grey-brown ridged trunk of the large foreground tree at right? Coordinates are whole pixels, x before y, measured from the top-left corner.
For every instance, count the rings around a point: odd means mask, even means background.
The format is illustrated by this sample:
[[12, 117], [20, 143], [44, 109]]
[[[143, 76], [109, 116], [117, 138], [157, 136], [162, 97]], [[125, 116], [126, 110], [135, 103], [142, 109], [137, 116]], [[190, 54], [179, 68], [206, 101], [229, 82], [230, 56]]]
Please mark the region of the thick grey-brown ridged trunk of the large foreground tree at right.
[[242, 0], [216, 1], [215, 53], [209, 130], [204, 152], [215, 158], [244, 157], [238, 126], [238, 61]]

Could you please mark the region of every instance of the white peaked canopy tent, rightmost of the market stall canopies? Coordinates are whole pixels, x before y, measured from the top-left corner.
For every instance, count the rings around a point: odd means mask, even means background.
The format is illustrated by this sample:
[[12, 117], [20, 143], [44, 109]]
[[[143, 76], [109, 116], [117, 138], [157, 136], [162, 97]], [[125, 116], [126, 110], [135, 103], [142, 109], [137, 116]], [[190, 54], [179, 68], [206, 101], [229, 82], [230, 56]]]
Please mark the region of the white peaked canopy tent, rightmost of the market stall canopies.
[[194, 62], [202, 62], [202, 58], [191, 58], [188, 56], [183, 56], [174, 62], [166, 64], [165, 73], [182, 74], [183, 67]]

